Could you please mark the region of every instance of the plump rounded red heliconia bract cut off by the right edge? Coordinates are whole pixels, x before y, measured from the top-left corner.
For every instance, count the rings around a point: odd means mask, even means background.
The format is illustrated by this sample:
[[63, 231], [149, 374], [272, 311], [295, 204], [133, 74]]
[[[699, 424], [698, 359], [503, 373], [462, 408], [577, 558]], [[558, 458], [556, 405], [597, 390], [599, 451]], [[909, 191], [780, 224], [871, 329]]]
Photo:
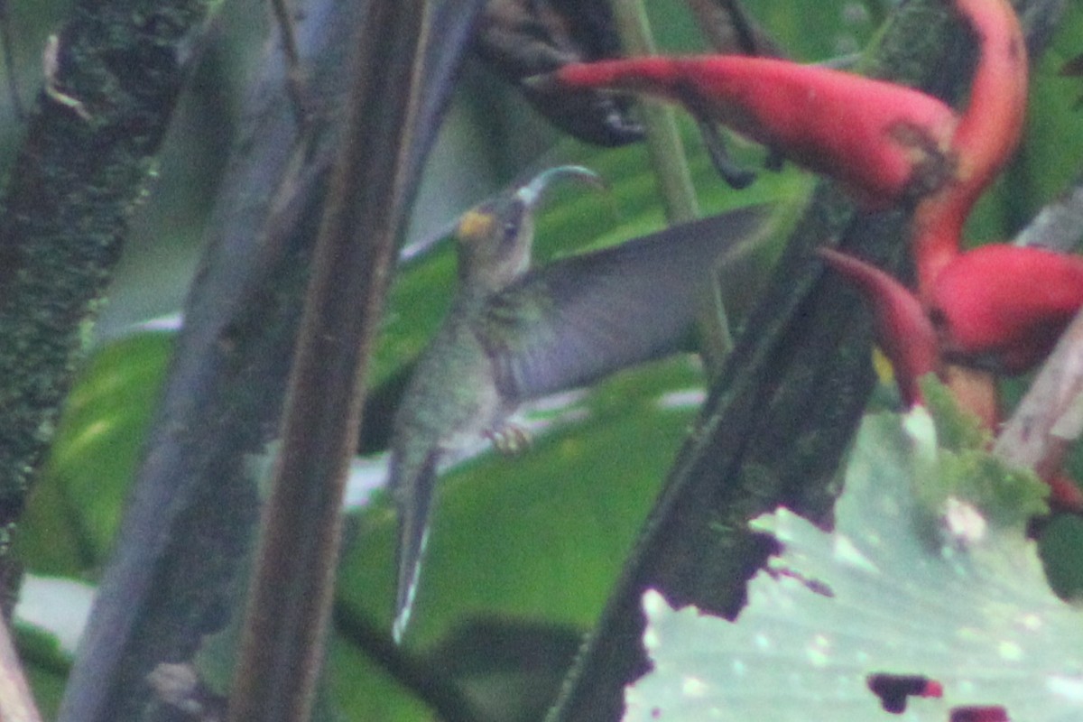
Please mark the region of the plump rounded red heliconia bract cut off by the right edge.
[[958, 255], [932, 285], [941, 352], [1009, 373], [1044, 358], [1083, 306], [1083, 257], [994, 244]]

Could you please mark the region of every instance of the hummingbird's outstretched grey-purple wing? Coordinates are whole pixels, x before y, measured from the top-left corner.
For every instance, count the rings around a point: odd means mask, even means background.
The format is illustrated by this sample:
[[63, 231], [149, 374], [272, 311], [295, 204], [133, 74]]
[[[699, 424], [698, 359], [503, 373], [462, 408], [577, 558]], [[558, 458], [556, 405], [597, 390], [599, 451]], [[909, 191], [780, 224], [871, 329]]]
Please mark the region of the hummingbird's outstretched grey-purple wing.
[[712, 272], [762, 234], [755, 206], [532, 271], [492, 299], [480, 340], [510, 398], [589, 383], [679, 351]]

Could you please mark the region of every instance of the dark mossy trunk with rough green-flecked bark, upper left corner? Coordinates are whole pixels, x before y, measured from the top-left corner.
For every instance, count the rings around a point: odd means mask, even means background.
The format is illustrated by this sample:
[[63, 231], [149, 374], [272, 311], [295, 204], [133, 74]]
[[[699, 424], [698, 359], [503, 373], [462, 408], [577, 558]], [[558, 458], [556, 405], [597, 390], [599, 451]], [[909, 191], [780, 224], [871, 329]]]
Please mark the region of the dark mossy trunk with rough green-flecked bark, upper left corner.
[[0, 542], [53, 436], [212, 0], [79, 2], [0, 201]]

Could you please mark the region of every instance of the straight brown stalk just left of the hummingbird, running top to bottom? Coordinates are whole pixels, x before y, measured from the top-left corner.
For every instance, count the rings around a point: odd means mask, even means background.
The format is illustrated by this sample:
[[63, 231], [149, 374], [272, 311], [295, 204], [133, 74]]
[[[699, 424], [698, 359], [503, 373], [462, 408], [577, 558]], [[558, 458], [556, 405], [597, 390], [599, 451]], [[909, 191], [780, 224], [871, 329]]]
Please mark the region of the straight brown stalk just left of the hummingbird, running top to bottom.
[[308, 719], [329, 618], [342, 491], [365, 371], [405, 220], [423, 3], [373, 0], [358, 26], [349, 129], [334, 171], [263, 512], [229, 719]]

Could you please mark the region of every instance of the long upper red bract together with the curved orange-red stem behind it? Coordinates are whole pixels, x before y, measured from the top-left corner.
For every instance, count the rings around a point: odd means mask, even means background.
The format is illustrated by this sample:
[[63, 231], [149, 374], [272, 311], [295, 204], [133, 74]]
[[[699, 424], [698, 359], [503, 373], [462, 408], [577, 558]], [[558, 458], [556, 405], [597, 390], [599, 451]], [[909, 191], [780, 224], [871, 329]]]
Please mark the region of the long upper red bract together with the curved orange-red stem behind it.
[[836, 179], [865, 208], [927, 195], [915, 212], [918, 287], [958, 252], [970, 208], [1019, 141], [1027, 48], [1007, 0], [953, 0], [978, 40], [962, 116], [921, 91], [830, 68], [734, 55], [638, 57], [565, 65], [569, 87], [642, 92], [682, 103], [784, 157]]

